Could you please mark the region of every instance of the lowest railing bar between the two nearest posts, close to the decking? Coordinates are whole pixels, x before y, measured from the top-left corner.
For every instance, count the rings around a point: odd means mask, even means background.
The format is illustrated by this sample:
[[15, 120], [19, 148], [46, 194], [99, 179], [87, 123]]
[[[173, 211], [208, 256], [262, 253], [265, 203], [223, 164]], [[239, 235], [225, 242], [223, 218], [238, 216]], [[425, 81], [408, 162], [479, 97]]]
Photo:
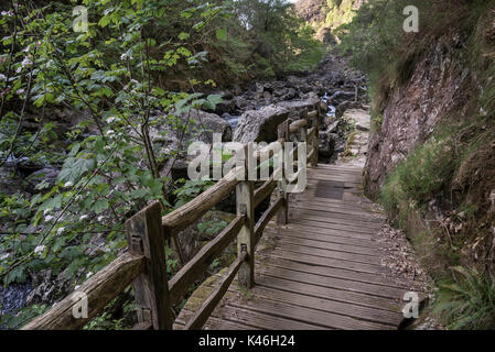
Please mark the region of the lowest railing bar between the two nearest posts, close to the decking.
[[225, 293], [230, 286], [234, 276], [239, 271], [240, 265], [246, 261], [248, 254], [244, 252], [237, 260], [229, 266], [225, 278], [220, 282], [219, 285], [213, 290], [209, 297], [203, 302], [203, 305], [194, 312], [194, 316], [187, 321], [184, 329], [185, 330], [198, 330], [203, 327], [203, 324], [208, 319], [212, 311], [220, 301], [222, 297], [224, 297]]

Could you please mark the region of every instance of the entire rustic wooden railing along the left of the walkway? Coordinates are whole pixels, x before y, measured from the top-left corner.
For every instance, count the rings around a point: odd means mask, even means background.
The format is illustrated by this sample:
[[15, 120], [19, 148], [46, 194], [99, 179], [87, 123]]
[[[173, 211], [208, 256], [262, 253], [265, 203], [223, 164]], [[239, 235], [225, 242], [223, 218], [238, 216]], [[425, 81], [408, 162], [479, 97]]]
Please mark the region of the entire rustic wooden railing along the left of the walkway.
[[[316, 166], [320, 108], [316, 103], [310, 109], [312, 111], [304, 109], [300, 112], [295, 121], [288, 119], [281, 123], [278, 127], [277, 142], [283, 145], [286, 141], [293, 141], [294, 138], [297, 142], [306, 142], [308, 163]], [[267, 147], [267, 151], [270, 150], [271, 145]], [[254, 157], [261, 160], [267, 151], [255, 151]], [[269, 154], [269, 157], [273, 158], [273, 153]], [[134, 329], [172, 329], [172, 305], [180, 302], [214, 258], [237, 241], [237, 260], [185, 327], [201, 329], [236, 274], [239, 285], [245, 288], [249, 289], [255, 284], [255, 248], [269, 221], [278, 215], [278, 223], [288, 222], [288, 194], [284, 189], [291, 180], [286, 177], [283, 166], [272, 170], [269, 179], [256, 190], [255, 182], [248, 180], [248, 177], [244, 177], [246, 180], [238, 180], [237, 176], [241, 173], [247, 176], [247, 165], [236, 165], [214, 186], [163, 218], [160, 213], [161, 207], [155, 202], [127, 220], [128, 251], [86, 280], [77, 289], [77, 295], [64, 298], [23, 329], [80, 329], [131, 283], [138, 317]], [[277, 180], [280, 178], [276, 177], [277, 173], [282, 173], [281, 180]], [[165, 241], [194, 223], [234, 190], [237, 217], [169, 280]], [[275, 201], [255, 223], [255, 208], [265, 199], [271, 199], [273, 191]], [[87, 300], [83, 302], [82, 297]], [[87, 304], [87, 315], [83, 317], [80, 312], [74, 314], [80, 309], [82, 304]]]

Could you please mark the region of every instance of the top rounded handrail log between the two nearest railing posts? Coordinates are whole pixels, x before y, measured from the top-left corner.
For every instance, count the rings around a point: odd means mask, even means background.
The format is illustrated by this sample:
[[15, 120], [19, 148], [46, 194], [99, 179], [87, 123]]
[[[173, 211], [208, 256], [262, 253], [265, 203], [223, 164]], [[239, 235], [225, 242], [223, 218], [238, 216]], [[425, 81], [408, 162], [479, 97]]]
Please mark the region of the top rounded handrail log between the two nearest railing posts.
[[244, 167], [236, 167], [200, 196], [163, 217], [162, 226], [165, 228], [165, 237], [169, 238], [184, 230], [227, 197], [239, 183], [238, 175], [244, 170]]

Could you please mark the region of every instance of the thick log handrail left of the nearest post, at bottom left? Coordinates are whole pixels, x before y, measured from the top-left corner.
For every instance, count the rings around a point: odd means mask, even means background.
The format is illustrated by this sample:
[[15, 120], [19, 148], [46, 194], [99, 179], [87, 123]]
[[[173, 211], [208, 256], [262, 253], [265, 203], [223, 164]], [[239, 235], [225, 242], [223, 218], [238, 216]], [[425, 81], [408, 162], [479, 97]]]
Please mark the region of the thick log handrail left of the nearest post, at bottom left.
[[[83, 328], [105, 306], [144, 271], [146, 257], [126, 253], [86, 280], [75, 293], [50, 310], [26, 323], [21, 330], [76, 330]], [[87, 318], [74, 317], [82, 304], [79, 295], [87, 297]]]

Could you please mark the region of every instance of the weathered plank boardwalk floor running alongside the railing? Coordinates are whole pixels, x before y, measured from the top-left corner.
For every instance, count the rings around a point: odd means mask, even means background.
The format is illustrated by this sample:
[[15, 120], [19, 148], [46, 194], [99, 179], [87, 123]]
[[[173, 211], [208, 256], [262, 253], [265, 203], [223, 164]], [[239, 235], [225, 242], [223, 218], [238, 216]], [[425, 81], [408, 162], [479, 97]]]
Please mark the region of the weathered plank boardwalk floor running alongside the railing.
[[[243, 292], [234, 282], [204, 329], [397, 329], [407, 289], [380, 265], [384, 217], [361, 184], [361, 168], [309, 168], [306, 190], [290, 196], [289, 224], [265, 230], [255, 287]], [[175, 329], [200, 299], [193, 295]]]

